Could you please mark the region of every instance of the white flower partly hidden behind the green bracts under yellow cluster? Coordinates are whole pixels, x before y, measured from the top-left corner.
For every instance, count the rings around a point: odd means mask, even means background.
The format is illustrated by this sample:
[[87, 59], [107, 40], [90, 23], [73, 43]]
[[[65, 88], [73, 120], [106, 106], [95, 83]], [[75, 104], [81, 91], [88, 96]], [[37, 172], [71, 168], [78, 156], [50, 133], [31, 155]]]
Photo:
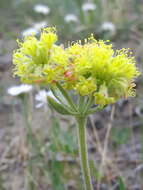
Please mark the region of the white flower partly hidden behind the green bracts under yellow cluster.
[[58, 100], [55, 98], [53, 93], [51, 91], [46, 90], [40, 90], [38, 94], [35, 96], [35, 100], [37, 100], [39, 103], [36, 105], [36, 108], [40, 108], [42, 106], [47, 106], [47, 97], [53, 98], [55, 101], [58, 102]]

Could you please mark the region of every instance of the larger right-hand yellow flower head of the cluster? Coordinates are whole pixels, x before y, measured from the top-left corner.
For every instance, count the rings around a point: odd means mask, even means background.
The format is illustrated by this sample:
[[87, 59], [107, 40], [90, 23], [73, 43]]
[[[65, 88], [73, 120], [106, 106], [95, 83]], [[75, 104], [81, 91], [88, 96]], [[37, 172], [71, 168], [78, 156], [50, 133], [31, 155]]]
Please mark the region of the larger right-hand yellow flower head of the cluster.
[[108, 41], [97, 41], [91, 36], [84, 45], [74, 44], [66, 51], [76, 79], [72, 88], [79, 94], [92, 94], [100, 105], [134, 95], [134, 79], [139, 71], [128, 49], [115, 51]]

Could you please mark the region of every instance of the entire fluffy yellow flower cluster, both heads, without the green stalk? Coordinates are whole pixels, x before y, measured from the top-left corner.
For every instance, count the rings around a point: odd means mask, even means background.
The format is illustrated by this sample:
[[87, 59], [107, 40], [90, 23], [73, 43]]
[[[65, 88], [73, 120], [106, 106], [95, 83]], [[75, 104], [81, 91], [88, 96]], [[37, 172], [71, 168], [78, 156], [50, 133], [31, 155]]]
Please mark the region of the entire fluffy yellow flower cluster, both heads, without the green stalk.
[[26, 37], [13, 54], [14, 73], [24, 83], [54, 85], [75, 90], [82, 96], [95, 96], [106, 105], [134, 95], [134, 79], [139, 75], [128, 49], [113, 50], [112, 45], [91, 36], [67, 48], [55, 44], [55, 28], [46, 28], [40, 39]]

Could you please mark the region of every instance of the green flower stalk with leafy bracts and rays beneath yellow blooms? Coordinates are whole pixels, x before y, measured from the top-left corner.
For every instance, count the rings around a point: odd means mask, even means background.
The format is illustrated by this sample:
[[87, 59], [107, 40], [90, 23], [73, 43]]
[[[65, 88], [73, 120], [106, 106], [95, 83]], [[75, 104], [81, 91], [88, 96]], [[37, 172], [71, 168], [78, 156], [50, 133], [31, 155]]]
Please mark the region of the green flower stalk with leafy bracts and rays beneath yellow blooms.
[[[55, 102], [54, 99], [48, 98], [49, 105], [51, 105], [57, 112], [61, 114], [73, 115], [77, 122], [77, 136], [78, 136], [78, 144], [79, 144], [79, 157], [80, 164], [83, 174], [83, 182], [85, 190], [93, 190], [90, 168], [88, 162], [88, 147], [87, 147], [87, 135], [86, 135], [86, 121], [88, 112], [90, 111], [90, 107], [93, 102], [93, 98], [85, 98], [79, 96], [78, 105], [74, 103], [70, 95], [63, 89], [61, 85], [57, 85], [57, 88], [62, 94], [62, 97], [59, 97], [55, 91], [54, 94], [56, 98], [60, 101], [60, 103]], [[65, 98], [67, 101], [67, 105], [63, 104], [61, 99]], [[87, 101], [87, 104], [85, 103]], [[71, 112], [73, 109], [74, 112]], [[94, 110], [95, 111], [95, 110]]]

